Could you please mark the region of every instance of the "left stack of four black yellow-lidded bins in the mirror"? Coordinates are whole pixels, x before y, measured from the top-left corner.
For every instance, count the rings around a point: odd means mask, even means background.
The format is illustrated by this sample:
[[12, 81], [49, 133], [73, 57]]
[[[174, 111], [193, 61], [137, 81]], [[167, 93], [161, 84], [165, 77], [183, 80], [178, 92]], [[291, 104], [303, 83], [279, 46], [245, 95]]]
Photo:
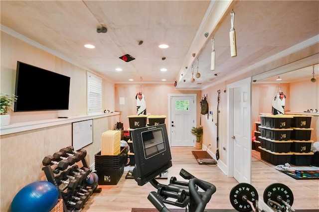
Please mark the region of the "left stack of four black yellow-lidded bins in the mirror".
[[290, 163], [291, 115], [260, 115], [260, 156], [274, 165]]

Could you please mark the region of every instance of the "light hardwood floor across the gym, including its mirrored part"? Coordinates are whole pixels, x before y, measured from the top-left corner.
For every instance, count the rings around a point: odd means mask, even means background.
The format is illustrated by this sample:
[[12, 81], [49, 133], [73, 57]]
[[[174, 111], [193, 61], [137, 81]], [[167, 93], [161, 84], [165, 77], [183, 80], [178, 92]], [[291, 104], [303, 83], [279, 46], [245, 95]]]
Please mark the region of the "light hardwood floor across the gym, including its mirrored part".
[[[238, 184], [234, 178], [228, 178], [218, 167], [199, 165], [191, 151], [192, 147], [171, 147], [172, 164], [168, 169], [168, 180], [159, 180], [168, 184], [171, 176], [185, 181], [179, 176], [181, 168], [195, 177], [216, 186], [206, 209], [233, 209], [229, 201], [229, 192]], [[258, 152], [255, 152], [258, 158]], [[259, 156], [260, 157], [260, 156]], [[125, 179], [124, 172], [119, 183], [114, 186], [99, 186], [101, 193], [95, 193], [87, 202], [83, 212], [131, 212], [132, 208], [154, 208], [147, 196], [156, 189], [150, 184], [138, 186], [135, 180]], [[319, 180], [295, 180], [279, 171], [270, 164], [252, 157], [252, 185], [263, 199], [263, 192], [272, 183], [283, 183], [294, 193], [294, 209], [319, 209]], [[168, 206], [168, 208], [176, 208]]]

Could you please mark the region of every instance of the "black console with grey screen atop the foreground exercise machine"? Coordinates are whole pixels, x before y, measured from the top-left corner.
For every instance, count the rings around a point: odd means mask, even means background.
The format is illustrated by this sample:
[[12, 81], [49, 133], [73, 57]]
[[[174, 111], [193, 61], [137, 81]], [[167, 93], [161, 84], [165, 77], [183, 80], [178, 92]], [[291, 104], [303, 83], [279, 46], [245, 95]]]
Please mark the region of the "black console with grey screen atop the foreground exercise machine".
[[137, 128], [131, 135], [135, 155], [133, 176], [143, 186], [172, 166], [166, 125]]

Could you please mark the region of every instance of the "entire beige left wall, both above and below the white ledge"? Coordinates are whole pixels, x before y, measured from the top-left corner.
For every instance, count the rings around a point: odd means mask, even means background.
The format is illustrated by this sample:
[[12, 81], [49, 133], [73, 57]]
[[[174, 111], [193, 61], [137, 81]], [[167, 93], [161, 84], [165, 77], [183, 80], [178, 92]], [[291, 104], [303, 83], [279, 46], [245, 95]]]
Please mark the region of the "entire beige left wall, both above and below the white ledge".
[[[11, 123], [86, 115], [86, 70], [1, 31], [0, 93], [14, 94], [16, 61], [71, 77], [68, 110], [10, 112]], [[94, 72], [93, 72], [94, 73]], [[101, 76], [103, 77], [103, 76]], [[114, 110], [114, 84], [103, 79], [103, 108]], [[30, 98], [37, 101], [36, 94]], [[102, 132], [113, 129], [119, 115], [93, 120], [93, 143], [85, 147], [88, 165], [101, 148]], [[7, 211], [14, 195], [27, 184], [45, 180], [42, 160], [72, 145], [72, 123], [0, 136], [0, 211]]]

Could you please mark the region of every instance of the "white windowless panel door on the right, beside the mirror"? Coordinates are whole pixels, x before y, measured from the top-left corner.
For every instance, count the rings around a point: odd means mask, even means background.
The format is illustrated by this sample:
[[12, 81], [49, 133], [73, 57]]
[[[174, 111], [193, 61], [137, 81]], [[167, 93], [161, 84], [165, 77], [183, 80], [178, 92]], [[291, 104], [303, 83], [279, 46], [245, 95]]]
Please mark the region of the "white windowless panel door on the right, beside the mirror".
[[251, 78], [230, 84], [229, 167], [239, 183], [251, 183]]

